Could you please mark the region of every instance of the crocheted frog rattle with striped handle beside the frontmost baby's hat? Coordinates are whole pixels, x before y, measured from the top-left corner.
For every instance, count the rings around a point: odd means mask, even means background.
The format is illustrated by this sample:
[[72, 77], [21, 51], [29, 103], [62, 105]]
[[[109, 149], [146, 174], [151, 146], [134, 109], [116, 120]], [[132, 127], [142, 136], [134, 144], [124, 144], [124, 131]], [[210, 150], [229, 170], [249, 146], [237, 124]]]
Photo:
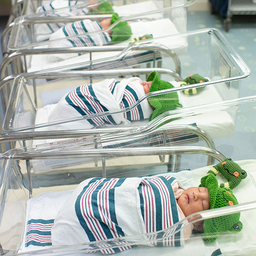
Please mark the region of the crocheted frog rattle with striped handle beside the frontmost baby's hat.
[[241, 169], [241, 167], [232, 161], [231, 158], [226, 158], [223, 162], [214, 165], [210, 168], [207, 174], [218, 174], [220, 172], [223, 177], [227, 180], [225, 183], [220, 183], [220, 188], [235, 188], [242, 179], [247, 177], [247, 173], [245, 170]]

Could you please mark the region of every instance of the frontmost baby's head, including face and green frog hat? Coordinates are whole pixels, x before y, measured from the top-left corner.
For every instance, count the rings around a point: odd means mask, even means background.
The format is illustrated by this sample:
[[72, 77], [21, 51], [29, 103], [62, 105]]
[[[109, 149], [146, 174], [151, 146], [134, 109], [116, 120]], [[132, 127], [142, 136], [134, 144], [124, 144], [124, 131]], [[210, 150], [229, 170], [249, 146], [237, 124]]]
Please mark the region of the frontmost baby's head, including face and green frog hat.
[[[199, 187], [184, 190], [178, 199], [178, 205], [185, 217], [202, 210], [216, 209], [224, 206], [237, 205], [235, 195], [231, 189], [220, 188], [214, 174], [208, 174], [201, 179]], [[242, 230], [239, 220], [240, 213], [224, 215], [203, 222], [196, 222], [196, 229], [204, 232], [206, 241], [213, 242], [221, 232], [237, 233]], [[201, 228], [200, 228], [201, 225]]]

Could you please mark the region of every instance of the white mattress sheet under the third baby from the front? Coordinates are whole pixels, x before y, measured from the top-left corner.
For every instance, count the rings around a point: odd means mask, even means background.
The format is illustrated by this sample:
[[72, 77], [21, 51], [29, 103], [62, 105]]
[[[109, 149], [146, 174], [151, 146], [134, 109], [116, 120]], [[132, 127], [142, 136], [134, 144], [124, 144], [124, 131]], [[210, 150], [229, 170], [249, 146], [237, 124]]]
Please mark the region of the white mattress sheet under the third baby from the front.
[[[161, 37], [161, 36], [168, 36], [179, 33], [176, 27], [174, 26], [173, 22], [170, 19], [159, 19], [153, 21], [138, 21], [130, 24], [133, 37], [143, 36], [145, 34], [153, 34], [154, 38]], [[120, 42], [118, 45], [128, 45], [128, 41]], [[61, 41], [58, 42], [58, 45], [61, 44]], [[186, 38], [179, 37], [176, 40], [163, 40], [161, 44], [169, 47], [174, 51], [184, 51], [187, 47], [187, 40]], [[48, 46], [44, 46], [47, 48]], [[41, 48], [41, 46], [40, 46]], [[128, 56], [134, 56], [135, 54], [140, 54], [142, 51], [131, 51], [128, 53]], [[62, 54], [57, 54], [56, 56], [60, 57]], [[108, 51], [108, 52], [95, 52], [92, 54], [93, 60], [102, 59], [102, 63], [107, 63], [109, 60], [104, 60], [105, 58], [117, 56], [118, 52]], [[63, 61], [56, 61], [56, 62], [49, 62], [48, 55], [32, 55], [31, 57], [31, 65], [28, 68], [28, 72], [34, 72], [39, 70], [44, 70], [48, 68], [55, 68], [55, 67], [65, 67], [67, 65], [78, 64], [82, 62], [86, 62], [90, 60], [89, 54], [82, 54], [81, 56], [72, 57], [69, 59], [67, 58], [67, 54], [63, 54]]]

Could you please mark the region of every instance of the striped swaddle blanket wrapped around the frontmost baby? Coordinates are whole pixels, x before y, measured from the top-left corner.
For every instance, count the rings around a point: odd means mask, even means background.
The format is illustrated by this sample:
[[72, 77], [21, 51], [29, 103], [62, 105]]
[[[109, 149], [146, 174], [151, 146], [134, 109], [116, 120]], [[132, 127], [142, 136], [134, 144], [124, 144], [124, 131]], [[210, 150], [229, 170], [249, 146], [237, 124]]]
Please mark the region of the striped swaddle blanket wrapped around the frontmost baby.
[[[85, 180], [69, 197], [51, 229], [52, 244], [72, 245], [120, 238], [169, 228], [180, 220], [171, 176]], [[156, 242], [159, 236], [145, 237], [151, 246], [181, 246], [183, 234]], [[107, 244], [107, 243], [106, 243]], [[125, 241], [102, 247], [103, 253], [130, 249]]]

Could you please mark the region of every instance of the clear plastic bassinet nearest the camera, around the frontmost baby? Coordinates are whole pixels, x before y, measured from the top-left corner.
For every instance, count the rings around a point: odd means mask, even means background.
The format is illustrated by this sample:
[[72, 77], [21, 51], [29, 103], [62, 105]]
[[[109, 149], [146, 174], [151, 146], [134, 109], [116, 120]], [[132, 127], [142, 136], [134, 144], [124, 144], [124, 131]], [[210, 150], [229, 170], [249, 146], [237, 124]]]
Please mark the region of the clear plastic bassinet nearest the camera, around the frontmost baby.
[[[230, 103], [230, 102], [229, 102]], [[224, 104], [224, 108], [232, 108], [239, 111], [239, 114], [245, 114], [253, 107], [255, 107], [256, 98], [251, 97], [248, 99], [243, 99], [239, 101], [234, 101], [230, 105]], [[211, 109], [213, 109], [212, 106]], [[233, 110], [234, 110], [233, 109]], [[208, 110], [209, 111], [209, 110]], [[207, 111], [206, 111], [207, 112]], [[200, 114], [200, 113], [199, 113]], [[241, 118], [238, 118], [238, 120]], [[255, 119], [253, 120], [255, 124]], [[242, 129], [242, 130], [241, 130]], [[244, 132], [245, 126], [237, 127], [232, 138], [222, 138], [221, 141], [216, 139], [217, 148], [236, 148], [230, 154], [225, 155], [225, 157], [231, 157], [233, 160], [237, 161], [243, 169], [248, 173], [247, 180], [245, 182], [241, 181], [241, 184], [233, 189], [240, 205], [229, 206], [228, 209], [215, 209], [209, 211], [200, 212], [200, 216], [205, 218], [210, 218], [218, 215], [226, 215], [227, 213], [234, 213], [241, 211], [241, 221], [243, 223], [243, 230], [237, 234], [223, 233], [219, 236], [217, 241], [213, 244], [205, 244], [200, 235], [193, 235], [192, 238], [185, 243], [185, 246], [181, 247], [164, 247], [155, 246], [152, 247], [154, 241], [164, 241], [166, 237], [170, 236], [172, 232], [179, 232], [176, 229], [177, 226], [173, 226], [168, 230], [163, 230], [158, 233], [142, 234], [139, 236], [127, 236], [124, 238], [106, 240], [102, 242], [91, 242], [88, 244], [80, 244], [76, 246], [60, 246], [60, 247], [42, 247], [40, 251], [22, 251], [22, 241], [26, 236], [26, 221], [28, 220], [26, 216], [30, 216], [33, 208], [30, 208], [31, 204], [26, 204], [32, 195], [33, 198], [38, 198], [36, 195], [41, 196], [41, 199], [45, 199], [48, 205], [56, 204], [53, 198], [60, 202], [61, 195], [67, 196], [69, 193], [68, 189], [74, 189], [74, 187], [81, 182], [83, 179], [90, 177], [101, 176], [102, 170], [101, 166], [93, 167], [86, 163], [78, 164], [74, 162], [72, 164], [67, 164], [56, 169], [52, 169], [47, 173], [30, 173], [30, 162], [40, 159], [81, 159], [85, 155], [88, 157], [102, 158], [102, 166], [107, 167], [107, 177], [133, 177], [142, 176], [147, 174], [161, 174], [167, 171], [166, 163], [159, 164], [158, 155], [171, 155], [171, 154], [188, 154], [184, 155], [191, 158], [189, 162], [186, 162], [184, 158], [183, 165], [186, 168], [191, 168], [190, 170], [183, 170], [178, 173], [170, 173], [177, 179], [181, 179], [185, 186], [198, 186], [200, 183], [200, 178], [204, 176], [210, 169], [210, 166], [204, 166], [202, 158], [195, 154], [206, 154], [211, 157], [215, 157], [218, 161], [223, 161], [225, 159], [224, 155], [219, 153], [213, 148], [206, 148], [202, 146], [177, 146], [177, 147], [150, 147], [150, 148], [117, 148], [117, 149], [87, 149], [86, 144], [82, 141], [77, 141], [78, 143], [72, 143], [69, 147], [69, 143], [66, 143], [65, 148], [50, 147], [50, 145], [41, 145], [37, 147], [28, 147], [23, 149], [13, 149], [6, 152], [1, 156], [1, 247], [2, 253], [5, 255], [15, 255], [18, 252], [26, 252], [26, 254], [33, 255], [76, 255], [78, 253], [94, 252], [100, 255], [100, 251], [104, 249], [120, 248], [120, 246], [134, 246], [132, 249], [122, 252], [123, 255], [136, 255], [147, 253], [147, 255], [166, 255], [172, 252], [172, 255], [252, 255], [255, 253], [255, 225], [254, 220], [255, 215], [255, 164], [256, 160], [251, 159], [251, 156], [255, 156], [255, 151], [251, 150], [250, 145], [251, 138], [255, 138], [254, 132], [243, 133], [243, 138], [240, 138], [241, 132]], [[248, 149], [245, 150], [245, 149]], [[235, 152], [236, 151], [236, 152]], [[137, 164], [136, 156], [138, 156], [139, 164]], [[145, 156], [145, 158], [144, 158]], [[146, 157], [146, 156], [149, 156]], [[154, 158], [154, 156], [156, 158]], [[111, 158], [109, 158], [111, 157]], [[113, 159], [114, 157], [114, 159]], [[125, 164], [125, 159], [127, 162]], [[201, 161], [200, 161], [201, 160]], [[144, 161], [144, 162], [143, 162]], [[104, 164], [103, 164], [104, 163]], [[131, 164], [132, 163], [132, 164]], [[135, 164], [136, 163], [136, 164]], [[27, 168], [26, 168], [27, 167]], [[194, 169], [197, 168], [197, 169]], [[55, 191], [55, 192], [54, 192]], [[57, 191], [59, 191], [57, 193]], [[61, 192], [62, 191], [62, 192]], [[65, 191], [65, 192], [64, 192]], [[41, 194], [46, 192], [45, 194]], [[60, 195], [60, 197], [53, 197], [53, 195]], [[52, 199], [52, 201], [50, 200]], [[39, 200], [39, 199], [38, 199]], [[33, 202], [33, 201], [31, 201]], [[34, 201], [35, 202], [35, 201]], [[40, 206], [40, 200], [38, 201]], [[32, 204], [33, 206], [33, 204]], [[44, 207], [44, 209], [50, 209], [50, 207]], [[34, 209], [35, 210], [35, 209]], [[41, 209], [37, 209], [41, 210]], [[15, 214], [20, 212], [19, 215]], [[46, 214], [45, 211], [42, 211]], [[6, 225], [8, 223], [8, 225]], [[181, 224], [182, 222], [179, 222]], [[174, 230], [175, 229], [175, 230]], [[172, 233], [173, 234], [173, 233]], [[156, 236], [157, 235], [157, 236]], [[150, 246], [150, 247], [149, 247]], [[20, 250], [21, 248], [21, 250]]]

